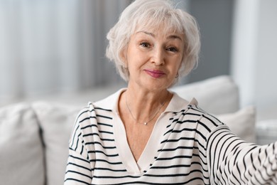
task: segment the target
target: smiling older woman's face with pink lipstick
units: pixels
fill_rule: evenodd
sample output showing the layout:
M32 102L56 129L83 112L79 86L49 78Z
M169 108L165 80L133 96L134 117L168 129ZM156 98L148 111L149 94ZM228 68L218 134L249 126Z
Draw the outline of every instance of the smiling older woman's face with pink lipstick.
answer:
M124 55L129 85L148 90L164 90L173 83L183 60L183 35L161 33L159 29L138 30Z

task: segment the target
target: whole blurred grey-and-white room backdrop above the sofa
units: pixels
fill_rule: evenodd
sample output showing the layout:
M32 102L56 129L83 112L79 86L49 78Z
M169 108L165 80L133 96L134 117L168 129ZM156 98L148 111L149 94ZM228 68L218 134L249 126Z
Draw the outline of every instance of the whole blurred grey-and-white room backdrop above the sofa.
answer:
M231 75L241 107L276 115L277 1L177 2L197 18L202 39L200 63L179 85ZM38 99L84 104L91 93L97 99L124 87L105 58L106 34L130 3L0 0L0 105Z

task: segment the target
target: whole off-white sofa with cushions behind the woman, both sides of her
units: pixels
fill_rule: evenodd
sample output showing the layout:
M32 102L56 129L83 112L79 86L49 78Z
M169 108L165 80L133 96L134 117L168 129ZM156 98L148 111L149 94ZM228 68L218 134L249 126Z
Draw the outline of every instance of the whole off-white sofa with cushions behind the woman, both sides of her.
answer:
M237 85L228 76L172 90L188 100L196 97L202 109L219 117L232 132L249 142L257 142L255 109L239 108ZM87 102L93 100L92 91ZM83 106L87 102L82 102ZM81 108L58 101L21 102L1 107L0 184L63 184L67 143Z

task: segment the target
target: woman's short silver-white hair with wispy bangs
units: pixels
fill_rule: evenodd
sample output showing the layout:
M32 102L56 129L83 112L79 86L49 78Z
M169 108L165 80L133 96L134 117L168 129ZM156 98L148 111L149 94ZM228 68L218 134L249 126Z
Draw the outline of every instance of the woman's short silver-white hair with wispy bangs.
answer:
M107 34L109 45L106 56L114 61L121 78L128 81L129 71L124 67L123 53L128 48L131 35L137 26L155 28L163 26L163 31L177 31L185 36L185 49L178 78L188 75L197 65L200 52L200 32L195 18L187 12L176 9L168 0L136 0L119 17L119 21ZM177 81L176 79L175 81Z

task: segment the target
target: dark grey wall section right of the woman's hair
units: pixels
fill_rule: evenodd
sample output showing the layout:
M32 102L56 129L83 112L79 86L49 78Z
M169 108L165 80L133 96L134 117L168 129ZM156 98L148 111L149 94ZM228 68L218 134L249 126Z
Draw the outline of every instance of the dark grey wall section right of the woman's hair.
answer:
M199 65L188 82L229 75L233 4L233 0L190 1L188 10L199 24L202 46Z

